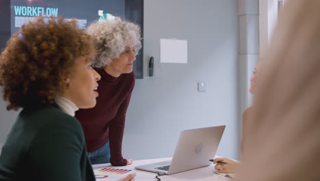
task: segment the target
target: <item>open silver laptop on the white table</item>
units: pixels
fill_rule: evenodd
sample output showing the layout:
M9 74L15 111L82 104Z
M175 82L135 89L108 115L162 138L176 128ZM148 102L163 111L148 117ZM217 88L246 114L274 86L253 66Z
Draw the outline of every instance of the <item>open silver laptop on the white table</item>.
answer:
M184 130L176 144L172 160L141 165L135 169L173 174L212 164L226 125Z

